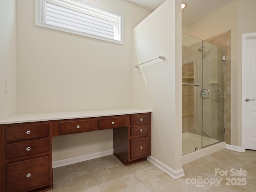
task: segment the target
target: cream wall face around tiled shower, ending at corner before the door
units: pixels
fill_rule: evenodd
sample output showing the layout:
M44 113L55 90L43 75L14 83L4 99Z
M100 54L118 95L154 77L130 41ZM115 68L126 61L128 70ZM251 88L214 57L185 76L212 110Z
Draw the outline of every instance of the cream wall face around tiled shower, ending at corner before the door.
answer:
M238 79L237 79L237 54L238 54L238 1L234 1L223 8L209 14L197 22L187 26L189 35L202 40L231 30L231 144L238 143Z

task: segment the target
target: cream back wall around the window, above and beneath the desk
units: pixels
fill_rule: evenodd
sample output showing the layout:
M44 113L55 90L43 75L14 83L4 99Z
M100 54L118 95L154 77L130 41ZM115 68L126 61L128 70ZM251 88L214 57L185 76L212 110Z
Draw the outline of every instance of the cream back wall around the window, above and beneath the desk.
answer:
M34 1L17 1L17 113L132 106L132 29L150 12L93 0L124 14L124 45L35 26ZM112 130L53 138L53 161L113 149Z

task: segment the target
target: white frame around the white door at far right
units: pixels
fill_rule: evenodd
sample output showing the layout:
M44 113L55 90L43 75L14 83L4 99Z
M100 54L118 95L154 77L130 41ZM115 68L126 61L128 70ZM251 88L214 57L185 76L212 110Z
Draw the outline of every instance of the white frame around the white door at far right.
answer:
M244 33L242 34L242 152L245 152L245 49L246 49L246 40L256 38L256 33Z

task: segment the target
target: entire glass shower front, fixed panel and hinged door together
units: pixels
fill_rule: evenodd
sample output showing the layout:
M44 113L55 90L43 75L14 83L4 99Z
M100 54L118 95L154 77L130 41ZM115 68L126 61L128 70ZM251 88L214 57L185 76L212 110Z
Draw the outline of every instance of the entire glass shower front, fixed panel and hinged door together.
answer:
M182 33L182 155L224 140L223 55Z

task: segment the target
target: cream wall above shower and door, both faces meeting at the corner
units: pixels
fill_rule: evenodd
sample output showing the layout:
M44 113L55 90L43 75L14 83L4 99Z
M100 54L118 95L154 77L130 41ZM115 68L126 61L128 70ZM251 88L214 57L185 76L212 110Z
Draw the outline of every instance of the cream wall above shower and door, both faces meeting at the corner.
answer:
M236 0L184 28L188 34L207 39L231 30L231 145L241 146L242 34L256 32L256 1Z

